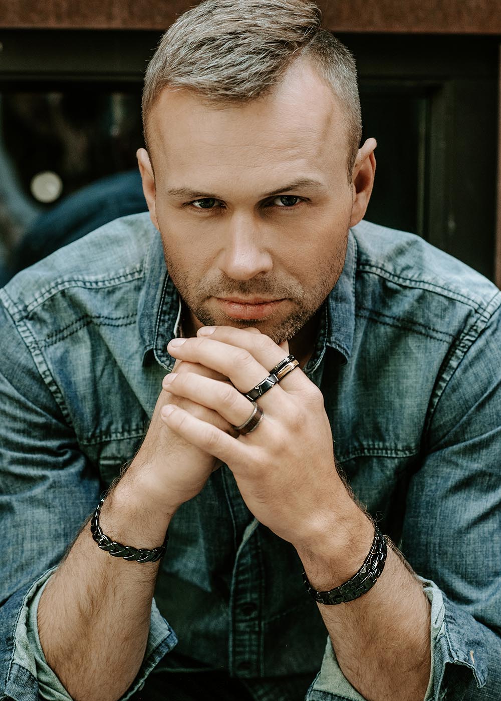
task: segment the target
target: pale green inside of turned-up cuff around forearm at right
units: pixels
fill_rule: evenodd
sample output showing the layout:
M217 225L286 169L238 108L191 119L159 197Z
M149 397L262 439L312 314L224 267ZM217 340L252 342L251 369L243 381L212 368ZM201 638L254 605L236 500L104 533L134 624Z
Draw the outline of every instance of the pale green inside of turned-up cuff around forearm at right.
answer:
M430 639L432 650L432 671L429 678L425 701L434 701L438 698L438 692L443 678L446 662L453 662L452 658L444 659L443 646L440 641L445 634L445 606L443 595L439 587L431 580L417 577L422 583L423 591L432 604ZM316 675L312 686L309 687L306 701L366 701L352 686L342 673L336 659L330 638L327 637L326 651L323 654L322 665L319 674Z

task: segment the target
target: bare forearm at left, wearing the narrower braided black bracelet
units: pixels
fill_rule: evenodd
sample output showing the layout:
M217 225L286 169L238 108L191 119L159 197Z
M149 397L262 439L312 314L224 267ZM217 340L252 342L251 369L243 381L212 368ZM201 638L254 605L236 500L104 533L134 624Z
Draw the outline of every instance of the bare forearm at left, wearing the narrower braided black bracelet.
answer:
M123 479L100 523L135 547L163 543L171 515L148 510ZM145 654L158 563L127 562L99 549L89 524L48 582L38 612L44 655L76 701L112 701L130 686Z

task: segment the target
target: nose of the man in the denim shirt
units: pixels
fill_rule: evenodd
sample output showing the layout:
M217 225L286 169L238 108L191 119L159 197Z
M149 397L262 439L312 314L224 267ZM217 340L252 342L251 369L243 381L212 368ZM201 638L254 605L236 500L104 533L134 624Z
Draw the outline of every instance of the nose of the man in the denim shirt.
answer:
M220 269L233 280L250 280L273 267L262 222L254 217L233 215L228 223Z

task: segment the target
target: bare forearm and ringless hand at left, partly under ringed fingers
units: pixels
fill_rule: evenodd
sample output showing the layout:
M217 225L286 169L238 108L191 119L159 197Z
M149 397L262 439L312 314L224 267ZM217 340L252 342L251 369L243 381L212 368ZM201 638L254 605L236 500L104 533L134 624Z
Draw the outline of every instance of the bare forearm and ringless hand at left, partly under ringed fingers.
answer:
M177 362L175 372L225 381L188 362ZM102 505L102 529L119 543L161 545L173 513L220 465L161 420L161 407L173 402L232 431L219 414L162 389L138 454ZM86 524L48 581L38 609L41 646L76 701L115 701L130 686L145 655L158 569L158 562L110 557L94 543Z

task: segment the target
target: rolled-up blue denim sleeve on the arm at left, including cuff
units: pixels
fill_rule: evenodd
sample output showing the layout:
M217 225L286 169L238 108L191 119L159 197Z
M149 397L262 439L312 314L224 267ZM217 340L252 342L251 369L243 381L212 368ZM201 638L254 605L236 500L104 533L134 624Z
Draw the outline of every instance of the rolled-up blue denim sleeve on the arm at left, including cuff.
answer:
M102 484L1 305L0 358L0 700L67 699L46 665L36 606ZM176 642L153 603L146 655L124 699Z

